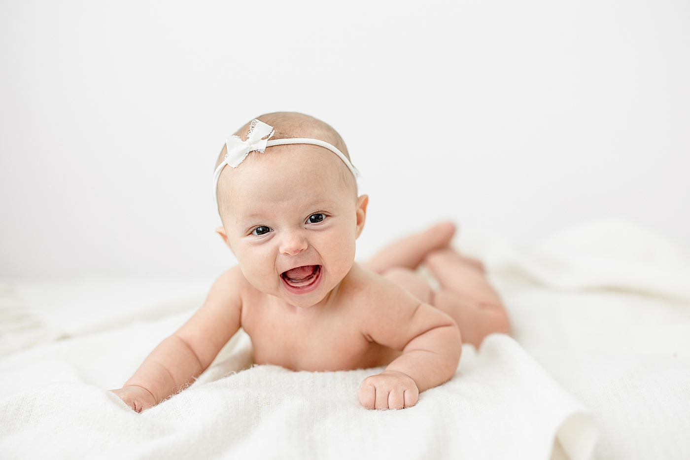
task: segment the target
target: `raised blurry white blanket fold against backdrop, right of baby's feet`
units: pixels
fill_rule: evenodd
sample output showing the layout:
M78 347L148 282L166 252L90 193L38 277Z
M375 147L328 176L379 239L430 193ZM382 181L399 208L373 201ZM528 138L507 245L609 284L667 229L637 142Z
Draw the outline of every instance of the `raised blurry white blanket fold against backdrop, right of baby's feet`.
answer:
M566 229L526 255L503 243L484 257L495 271L521 271L551 288L614 289L690 300L690 251L620 218Z

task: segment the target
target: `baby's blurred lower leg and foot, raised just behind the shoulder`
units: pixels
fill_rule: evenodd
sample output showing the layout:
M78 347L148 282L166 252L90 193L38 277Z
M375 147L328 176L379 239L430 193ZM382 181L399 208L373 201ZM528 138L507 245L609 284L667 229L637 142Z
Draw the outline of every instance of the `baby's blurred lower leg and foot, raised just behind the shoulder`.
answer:
M386 270L394 267L416 269L428 253L448 247L454 233L453 223L436 224L422 233L397 240L363 266L377 274L384 274Z

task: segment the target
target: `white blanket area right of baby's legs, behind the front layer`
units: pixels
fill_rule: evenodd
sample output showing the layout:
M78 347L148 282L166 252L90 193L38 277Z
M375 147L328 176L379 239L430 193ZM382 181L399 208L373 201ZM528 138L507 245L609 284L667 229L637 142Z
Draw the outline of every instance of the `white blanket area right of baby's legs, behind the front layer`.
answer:
M690 254L625 220L520 253L461 236L484 260L513 336L591 410L595 459L690 459Z

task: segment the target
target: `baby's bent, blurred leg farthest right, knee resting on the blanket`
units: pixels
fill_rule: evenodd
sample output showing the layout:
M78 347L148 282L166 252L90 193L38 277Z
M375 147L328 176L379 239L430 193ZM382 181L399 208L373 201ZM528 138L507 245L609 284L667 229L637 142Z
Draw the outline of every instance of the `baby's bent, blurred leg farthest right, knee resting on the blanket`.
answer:
M477 261L453 249L435 251L424 261L442 288L433 296L432 305L453 317L464 343L478 347L489 334L510 331L501 299Z

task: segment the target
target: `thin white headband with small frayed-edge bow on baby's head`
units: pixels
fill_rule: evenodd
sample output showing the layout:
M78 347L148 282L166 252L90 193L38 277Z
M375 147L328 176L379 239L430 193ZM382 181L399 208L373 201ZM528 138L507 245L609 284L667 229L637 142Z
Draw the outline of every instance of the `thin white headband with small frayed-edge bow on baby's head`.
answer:
M348 160L347 157L343 155L343 153L337 148L331 144L328 144L328 142L318 139L304 139L302 137L269 140L270 137L273 136L273 133L275 133L275 131L273 131L273 126L268 126L268 124L259 122L258 119L254 119L252 124L249 126L246 141L243 141L239 136L230 136L226 138L228 153L225 154L223 162L218 165L215 173L213 173L213 198L215 198L216 203L218 202L218 178L220 177L220 173L223 171L225 165L227 164L228 166L237 168L237 166L244 161L250 152L256 151L259 153L264 153L266 147L274 145L313 144L328 148L328 150L335 153L335 155L338 155L340 160L343 160L355 178L357 178L359 175L357 169L355 169L355 166L352 165L350 160ZM264 139L264 137L266 137L266 139Z

